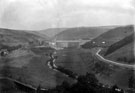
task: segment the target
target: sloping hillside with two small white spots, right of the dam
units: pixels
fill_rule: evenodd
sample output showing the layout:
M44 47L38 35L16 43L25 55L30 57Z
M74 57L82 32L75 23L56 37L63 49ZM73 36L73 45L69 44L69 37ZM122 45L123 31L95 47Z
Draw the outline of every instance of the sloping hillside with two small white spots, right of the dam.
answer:
M85 43L84 45L82 45L82 47L83 48L108 47L114 44L115 42L118 42L123 38L129 36L132 33L134 33L133 25L117 27L101 34L92 41Z

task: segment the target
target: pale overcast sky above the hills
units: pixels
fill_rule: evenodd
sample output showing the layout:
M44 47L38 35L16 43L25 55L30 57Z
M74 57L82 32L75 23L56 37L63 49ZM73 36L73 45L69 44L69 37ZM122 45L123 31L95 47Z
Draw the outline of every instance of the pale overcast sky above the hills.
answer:
M134 11L135 0L0 0L0 27L128 25L133 24Z

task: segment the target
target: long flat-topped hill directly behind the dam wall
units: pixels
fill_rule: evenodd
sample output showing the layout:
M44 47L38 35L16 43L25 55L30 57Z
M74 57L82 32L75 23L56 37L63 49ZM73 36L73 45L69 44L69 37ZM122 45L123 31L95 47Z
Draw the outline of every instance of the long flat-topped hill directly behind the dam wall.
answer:
M110 30L113 27L76 27L66 29L57 35L57 40L92 39Z

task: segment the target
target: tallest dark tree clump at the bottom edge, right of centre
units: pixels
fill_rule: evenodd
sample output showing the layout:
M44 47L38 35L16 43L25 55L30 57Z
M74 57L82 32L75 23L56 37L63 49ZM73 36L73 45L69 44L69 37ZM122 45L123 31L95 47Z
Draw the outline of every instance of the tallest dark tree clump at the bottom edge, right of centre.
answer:
M71 87L71 93L95 93L97 91L97 83L95 75L87 73L85 76L79 76L78 82Z

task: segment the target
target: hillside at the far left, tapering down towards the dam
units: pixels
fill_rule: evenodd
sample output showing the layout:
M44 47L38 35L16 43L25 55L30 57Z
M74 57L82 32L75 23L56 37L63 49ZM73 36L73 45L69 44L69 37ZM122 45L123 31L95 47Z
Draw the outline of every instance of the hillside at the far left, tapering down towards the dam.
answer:
M12 46L29 42L38 43L40 41L46 41L46 38L27 31L0 28L1 44Z

